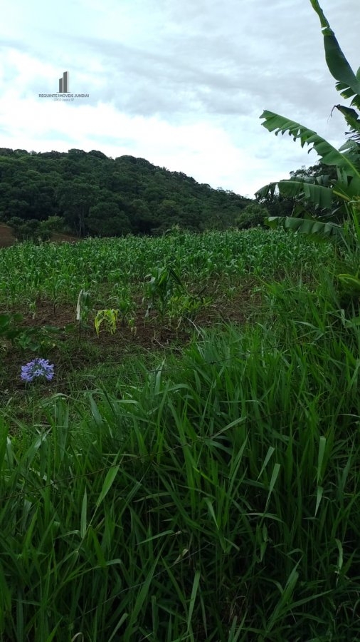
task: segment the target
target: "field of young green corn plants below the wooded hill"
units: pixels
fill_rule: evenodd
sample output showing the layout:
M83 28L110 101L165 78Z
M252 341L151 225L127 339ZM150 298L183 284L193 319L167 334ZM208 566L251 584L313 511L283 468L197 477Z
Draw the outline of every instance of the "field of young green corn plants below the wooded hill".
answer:
M81 284L85 292L90 292L92 307L95 302L101 302L102 308L119 310L125 305L132 315L134 296L145 295L151 304L159 280L163 298L168 286L168 300L177 294L178 287L180 294L186 293L176 278L171 282L171 275L162 272L164 266L176 266L176 275L185 288L196 282L200 290L206 285L213 290L214 282L231 280L236 284L248 275L269 278L283 270L294 273L296 265L307 269L328 263L333 256L330 245L312 252L310 247L305 238L290 239L283 230L261 228L203 235L178 231L158 238L129 236L79 243L17 244L0 252L0 303L23 305L24 301L41 297L56 305L69 302L75 307ZM144 285L146 275L149 287L147 282ZM104 290L109 293L105 299Z

